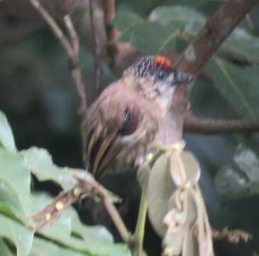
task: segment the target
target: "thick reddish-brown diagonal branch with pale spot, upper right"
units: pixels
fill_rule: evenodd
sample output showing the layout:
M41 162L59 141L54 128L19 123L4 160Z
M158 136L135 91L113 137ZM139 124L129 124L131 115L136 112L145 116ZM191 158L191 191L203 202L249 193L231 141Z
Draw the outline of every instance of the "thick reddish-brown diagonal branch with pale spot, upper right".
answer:
M256 0L228 0L222 4L219 11L206 22L194 42L184 50L177 61L178 69L193 74L199 73L206 61L256 2Z

